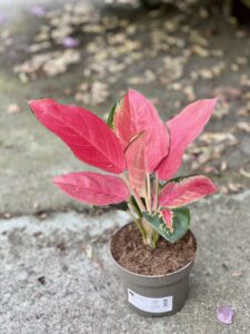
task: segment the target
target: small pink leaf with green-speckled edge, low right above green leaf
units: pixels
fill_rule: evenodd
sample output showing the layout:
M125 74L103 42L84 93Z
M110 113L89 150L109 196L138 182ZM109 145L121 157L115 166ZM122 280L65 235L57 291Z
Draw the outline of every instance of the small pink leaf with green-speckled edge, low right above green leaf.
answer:
M160 193L159 204L168 208L180 207L216 191L217 187L208 177L192 176L180 183L168 183Z

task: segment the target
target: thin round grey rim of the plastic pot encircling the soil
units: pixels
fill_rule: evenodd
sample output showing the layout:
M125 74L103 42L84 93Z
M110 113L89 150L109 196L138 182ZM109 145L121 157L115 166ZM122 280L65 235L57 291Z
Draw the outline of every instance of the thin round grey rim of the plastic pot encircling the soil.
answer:
M116 265L117 265L120 269L124 271L126 273L128 273L128 274L130 274L130 275L134 275L136 277L143 277L143 278L166 278L166 277L170 277L170 276L173 276L173 275L176 275L176 274L181 273L182 271L187 269L190 265L192 265L192 264L194 263L194 258L193 258L192 261L188 262L187 265L184 265L184 266L181 267L180 269L178 269L178 271L176 271L176 272L173 272L173 273L168 273L168 274L166 274L166 275L142 275L142 274L137 274L137 273L130 272L129 269L124 268L124 267L121 266L121 265L117 262L117 259L113 257L112 252L111 252L111 243L112 243L112 238L114 237L114 235L116 235L120 229L124 228L127 225L130 225L130 224L132 224L132 223L133 223L133 222L130 222L130 223L127 223L126 225L119 227L119 228L112 234L112 236L111 236L111 238L110 238L110 240L109 240L109 253L111 254L112 259L114 261ZM194 239L194 242L196 242L196 253L197 253L197 238L196 238L196 236L194 236L194 234L192 233L191 229L189 229L189 232L191 233L191 235L192 235L192 237L193 237L193 239Z

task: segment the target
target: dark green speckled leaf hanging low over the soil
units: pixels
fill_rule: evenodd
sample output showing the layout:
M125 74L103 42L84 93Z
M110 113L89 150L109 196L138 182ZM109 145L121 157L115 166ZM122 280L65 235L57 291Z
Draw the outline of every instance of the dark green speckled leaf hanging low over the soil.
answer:
M170 243L176 243L181 239L190 226L190 212L187 207L173 209L173 232L166 226L164 220L158 212L144 212L143 217L153 229Z

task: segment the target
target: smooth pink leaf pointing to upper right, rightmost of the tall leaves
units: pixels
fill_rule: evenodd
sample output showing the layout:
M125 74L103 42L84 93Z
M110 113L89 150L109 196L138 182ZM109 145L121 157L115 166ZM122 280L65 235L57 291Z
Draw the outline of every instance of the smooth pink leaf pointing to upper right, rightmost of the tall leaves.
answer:
M168 180L178 171L187 146L202 131L212 115L217 99L196 101L168 121L170 149L168 156L157 168L159 178Z

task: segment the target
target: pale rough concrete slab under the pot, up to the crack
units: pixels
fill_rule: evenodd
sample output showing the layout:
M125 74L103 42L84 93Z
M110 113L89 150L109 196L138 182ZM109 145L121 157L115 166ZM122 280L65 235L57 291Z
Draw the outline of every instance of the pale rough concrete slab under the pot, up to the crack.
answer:
M250 333L249 200L249 191L217 196L192 210L198 256L189 299L162 318L130 311L113 273L108 239L126 214L0 220L0 333ZM217 321L221 305L236 312L230 326Z

